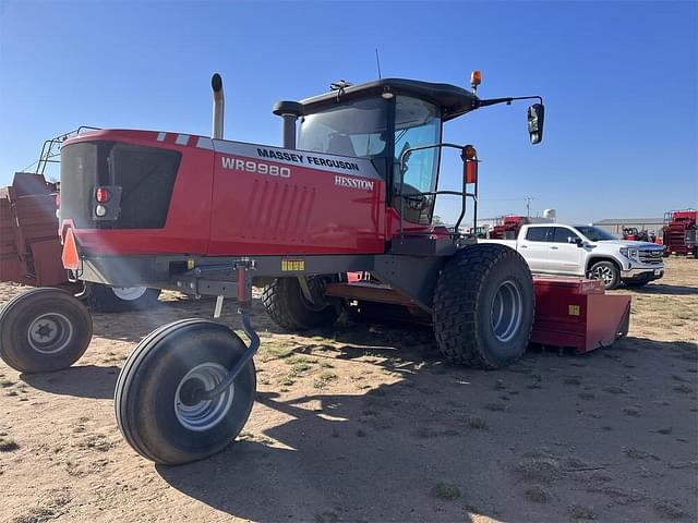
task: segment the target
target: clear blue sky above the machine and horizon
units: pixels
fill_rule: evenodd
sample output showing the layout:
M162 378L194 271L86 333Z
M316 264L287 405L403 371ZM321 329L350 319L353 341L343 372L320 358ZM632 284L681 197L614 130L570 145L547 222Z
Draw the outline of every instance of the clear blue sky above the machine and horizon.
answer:
M272 106L345 78L542 95L448 123L483 160L481 216L557 209L562 220L698 207L698 2L77 2L0 0L0 185L43 142L77 127L210 132L212 72L226 137L280 144ZM442 187L459 160L444 159ZM455 205L441 204L446 218Z

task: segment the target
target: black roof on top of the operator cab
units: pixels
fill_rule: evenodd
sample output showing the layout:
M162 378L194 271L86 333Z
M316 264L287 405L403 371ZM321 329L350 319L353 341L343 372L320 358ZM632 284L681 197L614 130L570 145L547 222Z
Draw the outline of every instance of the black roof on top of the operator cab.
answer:
M299 102L279 101L274 108L274 112L284 112L288 105L298 104L298 112L301 114L312 114L327 109L337 104L346 104L360 98L380 96L383 93L394 95L407 95L431 101L442 108L442 119L444 121L454 119L469 112L479 106L479 98L471 92L450 84L435 84L431 82L420 82L405 78L381 78L364 84L351 85L324 95L305 98ZM278 112L277 112L278 111Z

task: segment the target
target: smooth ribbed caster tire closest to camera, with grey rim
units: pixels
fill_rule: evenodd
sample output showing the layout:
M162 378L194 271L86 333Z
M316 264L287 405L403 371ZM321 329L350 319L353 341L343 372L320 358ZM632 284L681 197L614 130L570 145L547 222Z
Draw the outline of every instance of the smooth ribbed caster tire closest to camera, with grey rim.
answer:
M221 451L250 417L256 390L254 362L222 394L194 405L182 401L192 387L219 384L245 351L229 328L183 319L151 332L119 374L117 424L127 442L156 463L179 465Z

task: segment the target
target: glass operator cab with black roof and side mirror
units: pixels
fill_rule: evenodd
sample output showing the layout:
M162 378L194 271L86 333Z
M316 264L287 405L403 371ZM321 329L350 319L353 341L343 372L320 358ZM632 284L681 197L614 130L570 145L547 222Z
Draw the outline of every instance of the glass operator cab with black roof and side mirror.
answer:
M284 147L370 159L386 180L387 206L401 220L429 226L436 202L441 149L460 148L442 144L443 123L479 107L517 99L481 100L474 94L478 83L479 76L469 92L448 84L402 78L360 85L340 81L332 85L330 93L299 102L277 102L274 113L285 121ZM542 104L539 107L540 122L538 113L533 122L537 132L538 124L542 131ZM540 142L540 135L537 139ZM531 142L538 143L533 134ZM477 162L474 156L469 159Z

